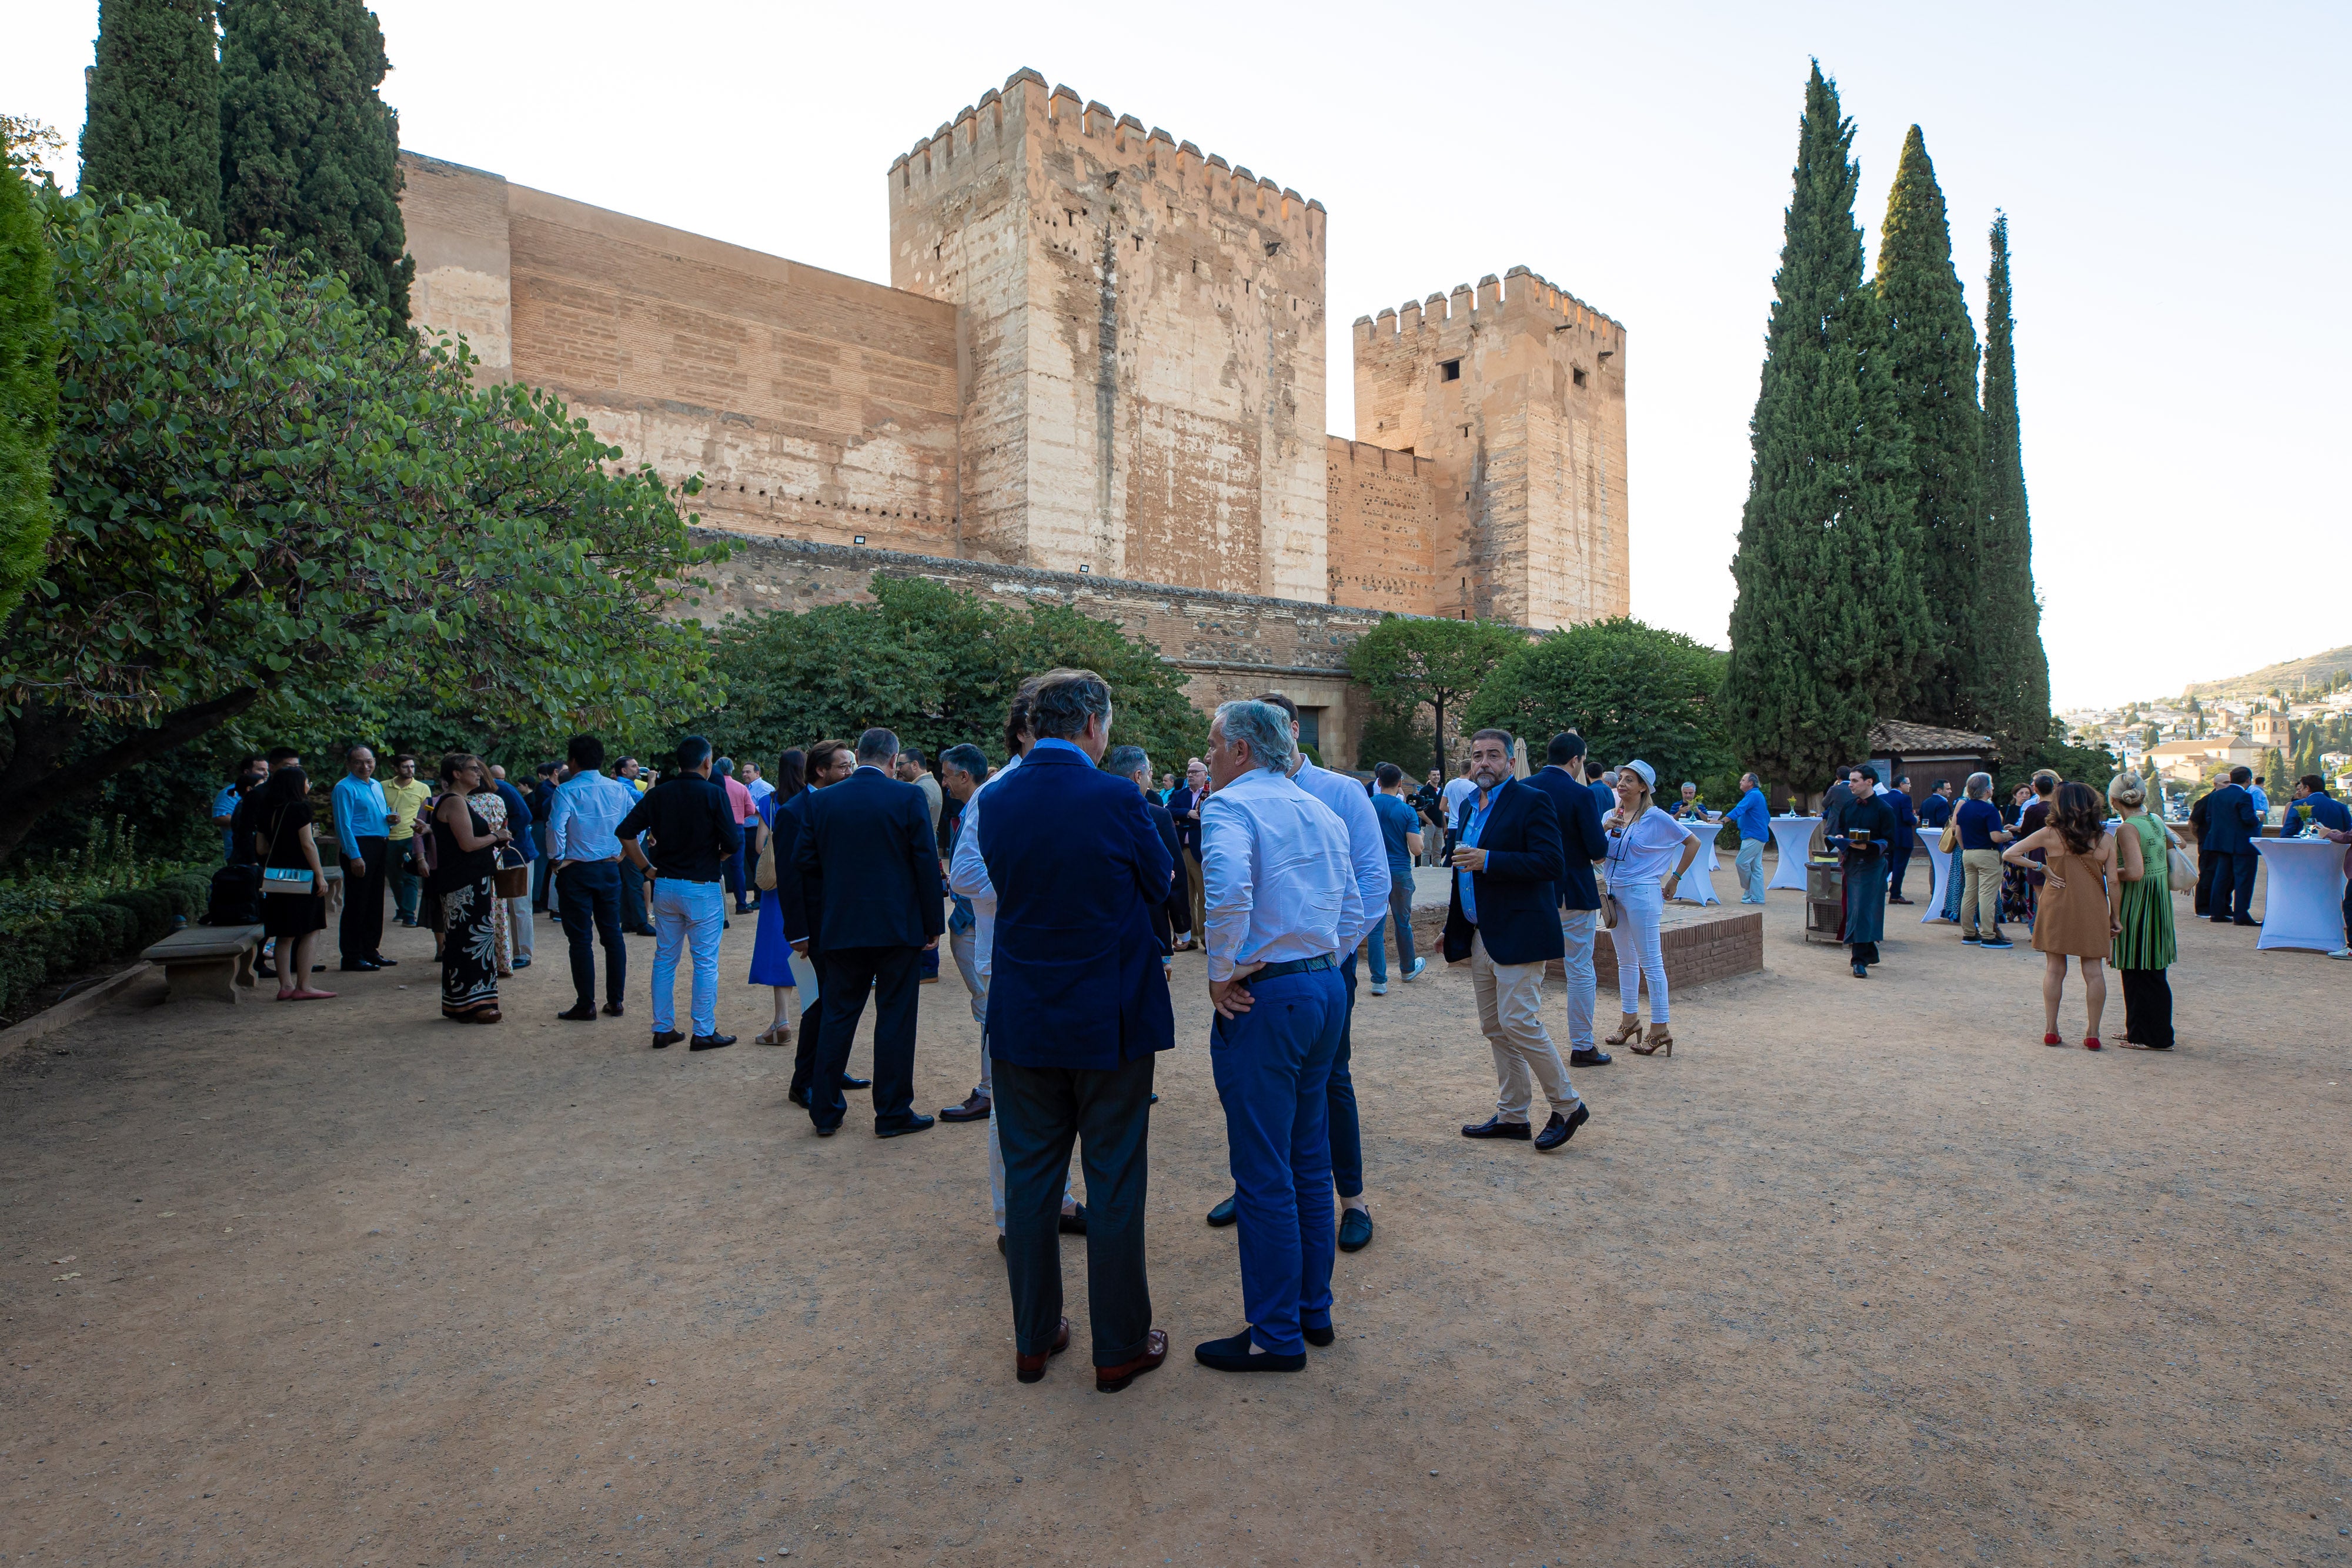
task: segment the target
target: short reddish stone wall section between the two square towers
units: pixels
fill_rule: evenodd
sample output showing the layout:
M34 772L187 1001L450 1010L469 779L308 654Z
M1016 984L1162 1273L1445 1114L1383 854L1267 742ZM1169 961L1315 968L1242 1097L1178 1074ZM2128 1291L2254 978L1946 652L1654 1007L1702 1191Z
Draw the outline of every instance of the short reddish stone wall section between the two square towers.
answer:
M1331 602L1437 616L1461 595L1437 581L1437 557L1458 552L1449 524L1461 508L1439 501L1437 463L1367 442L1331 437Z

